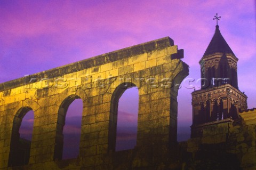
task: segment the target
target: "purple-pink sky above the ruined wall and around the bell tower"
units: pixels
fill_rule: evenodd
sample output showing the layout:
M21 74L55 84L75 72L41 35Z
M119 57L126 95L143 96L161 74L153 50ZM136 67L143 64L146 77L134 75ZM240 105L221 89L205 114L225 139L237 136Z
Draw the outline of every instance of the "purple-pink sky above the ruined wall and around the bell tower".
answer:
M256 107L255 1L0 1L0 83L169 36L185 50L188 78L220 31L236 54L238 86ZM191 92L181 85L179 126L191 125ZM200 86L200 84L196 84Z

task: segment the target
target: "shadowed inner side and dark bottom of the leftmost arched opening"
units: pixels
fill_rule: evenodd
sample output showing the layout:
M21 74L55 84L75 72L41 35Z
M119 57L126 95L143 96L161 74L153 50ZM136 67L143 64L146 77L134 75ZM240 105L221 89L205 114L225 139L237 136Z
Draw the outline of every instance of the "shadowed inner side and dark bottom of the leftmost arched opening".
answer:
M30 101L31 102L31 101ZM28 111L33 110L31 107L21 107L16 111L13 119L11 143L10 143L10 154L8 166L21 166L29 163L31 141L20 141L19 129L23 117ZM35 110L33 110L35 111Z

